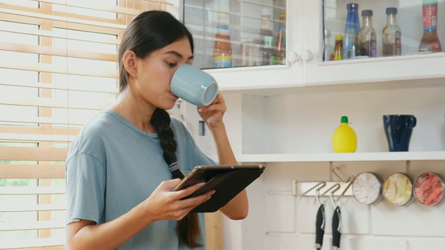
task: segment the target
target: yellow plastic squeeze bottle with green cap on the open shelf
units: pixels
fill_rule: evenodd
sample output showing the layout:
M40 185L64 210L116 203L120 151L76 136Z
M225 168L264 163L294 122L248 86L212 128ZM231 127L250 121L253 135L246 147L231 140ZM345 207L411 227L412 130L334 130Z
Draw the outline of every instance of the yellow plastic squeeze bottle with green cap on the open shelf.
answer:
M348 126L348 117L341 117L341 124L332 137L332 147L335 153L353 153L357 149L357 135Z

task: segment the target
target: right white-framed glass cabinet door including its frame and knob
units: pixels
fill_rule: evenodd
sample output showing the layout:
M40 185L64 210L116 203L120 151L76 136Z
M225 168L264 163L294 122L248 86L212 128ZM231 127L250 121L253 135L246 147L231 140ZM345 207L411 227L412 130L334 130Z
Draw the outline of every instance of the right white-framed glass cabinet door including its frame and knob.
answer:
M426 78L444 78L445 71L442 65L445 61L445 53L419 49L423 37L423 7L426 4L435 5L435 3L437 3L437 17L432 18L430 24L437 24L437 37L443 44L445 42L445 0L304 0L302 6L305 15L303 54L313 55L309 57L309 60L303 58L305 85L373 83L405 79L421 79L417 82L423 84ZM358 18L359 31L364 26L363 14L372 18L372 20L368 19L369 21L365 20L365 24L372 22L375 32L376 47L372 57L373 49L370 45L360 51L358 36L348 41L346 26L350 24L348 23L348 6L351 4L357 6L354 14L355 22ZM314 13L319 13L318 17ZM349 20L353 22L354 19ZM384 38L383 33L387 22L397 24L398 30L393 30L392 35L386 35ZM428 27L433 29L430 24ZM371 41L371 35L369 36L370 38L366 39ZM342 51L339 52L343 56L341 60L335 60L335 53L331 56L332 51L335 51L336 37L339 38L337 40L343 42ZM384 46L385 39L388 42ZM352 53L347 51L351 50L348 47L350 44L354 44L356 48L352 56L348 58L346 53ZM325 53L325 50L330 52Z

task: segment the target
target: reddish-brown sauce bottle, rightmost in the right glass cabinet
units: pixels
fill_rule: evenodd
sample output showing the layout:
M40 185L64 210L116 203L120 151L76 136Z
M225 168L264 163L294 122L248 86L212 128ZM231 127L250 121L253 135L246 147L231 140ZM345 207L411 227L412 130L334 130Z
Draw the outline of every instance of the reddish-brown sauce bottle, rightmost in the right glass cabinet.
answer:
M437 0L423 0L423 36L419 52L442 52L437 36Z

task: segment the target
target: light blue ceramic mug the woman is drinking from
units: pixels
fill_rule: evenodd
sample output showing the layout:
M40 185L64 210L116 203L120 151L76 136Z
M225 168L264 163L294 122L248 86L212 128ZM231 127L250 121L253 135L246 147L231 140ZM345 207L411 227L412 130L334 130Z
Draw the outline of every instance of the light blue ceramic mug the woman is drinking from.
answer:
M218 93L215 78L189 64L179 67L170 83L172 93L196 106L208 106Z

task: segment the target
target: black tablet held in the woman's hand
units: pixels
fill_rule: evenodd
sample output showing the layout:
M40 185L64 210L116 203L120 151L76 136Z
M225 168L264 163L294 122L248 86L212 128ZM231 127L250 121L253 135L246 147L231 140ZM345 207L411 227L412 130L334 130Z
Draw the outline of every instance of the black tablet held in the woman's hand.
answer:
M216 212L236 194L263 174L264 165L203 165L192 169L172 191L188 188L197 183L205 183L201 188L184 199L215 190L211 199L194 208L192 213Z

